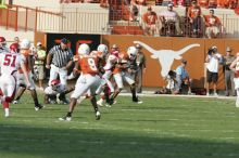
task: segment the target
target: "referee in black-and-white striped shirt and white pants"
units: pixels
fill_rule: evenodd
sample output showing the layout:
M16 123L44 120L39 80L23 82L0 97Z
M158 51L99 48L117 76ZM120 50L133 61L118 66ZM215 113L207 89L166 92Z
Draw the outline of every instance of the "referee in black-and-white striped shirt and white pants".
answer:
M54 45L48 53L46 68L50 69L49 85L60 76L61 83L66 88L67 69L73 64L73 53L67 48L68 40L63 38L61 44Z

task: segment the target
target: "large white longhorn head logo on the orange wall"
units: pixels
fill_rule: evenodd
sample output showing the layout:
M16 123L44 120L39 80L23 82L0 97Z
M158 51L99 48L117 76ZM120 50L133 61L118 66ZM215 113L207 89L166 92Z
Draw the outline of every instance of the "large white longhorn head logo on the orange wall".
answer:
M159 60L160 65L162 67L161 69L162 77L165 77L167 73L171 70L171 66L173 65L174 60L181 60L181 54L186 53L191 48L200 47L200 44L194 43L194 44L187 45L179 51L173 51L173 50L154 50L141 41L134 41L134 43L140 44L146 50L148 50L150 53L152 53L151 55L152 58Z

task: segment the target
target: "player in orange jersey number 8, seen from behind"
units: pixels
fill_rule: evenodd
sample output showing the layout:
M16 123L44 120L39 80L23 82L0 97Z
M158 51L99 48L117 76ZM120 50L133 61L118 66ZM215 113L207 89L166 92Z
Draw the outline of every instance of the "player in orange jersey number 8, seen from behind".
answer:
M75 61L75 71L80 69L80 76L75 84L75 90L71 96L70 109L66 116L59 118L59 120L71 121L72 113L76 106L77 98L85 95L87 92L90 94L90 101L96 113L96 119L100 119L100 111L97 105L96 89L100 84L99 69L97 67L99 57L90 55L88 44L80 44L78 49L78 61Z

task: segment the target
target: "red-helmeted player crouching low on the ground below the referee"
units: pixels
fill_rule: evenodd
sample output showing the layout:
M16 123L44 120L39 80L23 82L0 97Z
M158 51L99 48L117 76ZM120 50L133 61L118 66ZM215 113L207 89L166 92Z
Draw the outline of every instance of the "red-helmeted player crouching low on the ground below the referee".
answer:
M63 104L68 104L68 101L65 97L65 94L74 91L73 88L67 88L65 90L65 85L61 83L60 80L54 79L51 81L50 85L45 89L45 104L55 104L56 95L59 94L59 100Z

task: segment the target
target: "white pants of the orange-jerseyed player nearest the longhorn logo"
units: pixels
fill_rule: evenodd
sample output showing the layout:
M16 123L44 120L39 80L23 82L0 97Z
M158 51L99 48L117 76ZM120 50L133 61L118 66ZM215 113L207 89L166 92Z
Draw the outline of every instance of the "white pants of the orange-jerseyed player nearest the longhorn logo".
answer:
M118 73L114 75L114 80L118 87L118 89L123 89L123 80L126 81L129 85L135 83L135 75L130 75L129 73Z

